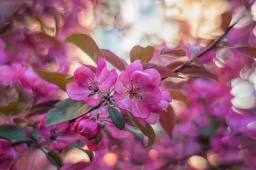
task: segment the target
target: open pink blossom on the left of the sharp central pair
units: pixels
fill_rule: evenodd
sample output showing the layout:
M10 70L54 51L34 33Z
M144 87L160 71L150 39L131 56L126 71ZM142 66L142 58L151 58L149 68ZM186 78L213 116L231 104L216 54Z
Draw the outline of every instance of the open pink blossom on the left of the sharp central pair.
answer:
M106 61L99 59L96 74L89 67L82 66L76 69L74 78L76 81L67 85L68 96L74 100L85 99L86 104L95 105L102 97L100 93L115 84L117 73L115 69L108 71Z

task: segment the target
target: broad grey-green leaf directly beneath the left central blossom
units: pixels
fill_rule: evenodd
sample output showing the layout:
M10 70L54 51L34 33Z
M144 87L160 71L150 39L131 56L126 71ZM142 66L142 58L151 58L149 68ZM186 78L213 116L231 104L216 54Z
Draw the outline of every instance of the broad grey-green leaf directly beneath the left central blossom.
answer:
M48 111L46 126L77 118L89 111L92 107L84 104L84 101L74 101L69 98L60 101L56 104L55 108Z

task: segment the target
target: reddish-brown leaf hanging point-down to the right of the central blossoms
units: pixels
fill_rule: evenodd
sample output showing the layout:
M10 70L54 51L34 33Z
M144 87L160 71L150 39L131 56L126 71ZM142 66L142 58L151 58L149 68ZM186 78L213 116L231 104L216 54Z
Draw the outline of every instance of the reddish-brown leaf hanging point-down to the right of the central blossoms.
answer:
M168 108L159 115L159 117L159 122L164 131L166 131L170 138L172 138L172 131L175 125L175 113L172 106L169 105Z

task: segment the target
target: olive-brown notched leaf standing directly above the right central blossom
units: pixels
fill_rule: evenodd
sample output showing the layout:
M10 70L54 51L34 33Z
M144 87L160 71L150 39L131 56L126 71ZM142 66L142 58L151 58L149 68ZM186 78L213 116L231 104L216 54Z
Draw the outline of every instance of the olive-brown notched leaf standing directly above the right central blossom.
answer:
M147 46L144 48L140 45L136 45L130 52L131 62L134 62L134 60L141 60L141 63L148 62L152 59L154 51L155 49L153 46Z

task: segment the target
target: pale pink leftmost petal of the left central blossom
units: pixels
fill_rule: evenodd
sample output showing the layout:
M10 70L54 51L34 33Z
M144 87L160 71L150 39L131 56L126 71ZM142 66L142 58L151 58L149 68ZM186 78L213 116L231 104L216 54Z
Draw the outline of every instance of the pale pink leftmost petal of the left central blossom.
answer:
M90 90L82 83L76 81L67 84L67 93L71 99L80 101L88 97Z

